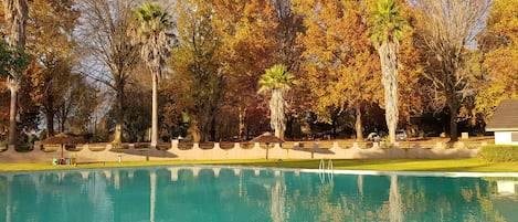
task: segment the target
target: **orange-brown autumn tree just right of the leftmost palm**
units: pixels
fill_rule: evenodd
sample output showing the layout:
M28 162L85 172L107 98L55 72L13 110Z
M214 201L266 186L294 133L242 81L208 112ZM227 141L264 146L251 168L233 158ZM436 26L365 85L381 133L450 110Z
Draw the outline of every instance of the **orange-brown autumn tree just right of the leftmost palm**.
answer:
M72 2L35 0L30 3L28 21L28 47L32 50L40 72L29 73L32 96L41 105L45 116L46 134L54 135L54 118L64 103L65 92L70 87L70 76L77 64L75 29L78 11Z

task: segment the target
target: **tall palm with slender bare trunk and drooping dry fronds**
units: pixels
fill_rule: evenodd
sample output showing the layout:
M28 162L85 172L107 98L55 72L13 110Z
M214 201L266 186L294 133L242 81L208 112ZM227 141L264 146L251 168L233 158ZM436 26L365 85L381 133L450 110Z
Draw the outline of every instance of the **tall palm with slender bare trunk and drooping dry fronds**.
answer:
M158 78L169 55L169 39L167 31L171 27L170 17L160 6L146 2L135 8L136 28L134 40L141 44L140 55L146 62L152 78L152 121L151 147L158 142Z

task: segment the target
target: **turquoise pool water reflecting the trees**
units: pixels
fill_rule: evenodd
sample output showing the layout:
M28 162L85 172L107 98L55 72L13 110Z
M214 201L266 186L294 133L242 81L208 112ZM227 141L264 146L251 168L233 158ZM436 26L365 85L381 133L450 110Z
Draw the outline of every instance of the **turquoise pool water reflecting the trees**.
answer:
M226 167L0 173L0 221L517 221L504 178Z

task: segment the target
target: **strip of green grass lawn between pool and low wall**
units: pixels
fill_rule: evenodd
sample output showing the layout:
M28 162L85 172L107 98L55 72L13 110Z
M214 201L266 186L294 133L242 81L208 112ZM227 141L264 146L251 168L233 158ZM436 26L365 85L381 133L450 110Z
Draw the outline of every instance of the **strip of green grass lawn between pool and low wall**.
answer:
M203 160L203 161L135 161L94 162L77 166L50 163L0 163L0 171L65 170L115 167L147 167L173 165L228 165L276 168L318 169L320 160ZM327 161L326 161L327 165ZM518 162L487 162L483 159L340 159L332 160L334 169L381 171L443 171L443 172L518 172Z

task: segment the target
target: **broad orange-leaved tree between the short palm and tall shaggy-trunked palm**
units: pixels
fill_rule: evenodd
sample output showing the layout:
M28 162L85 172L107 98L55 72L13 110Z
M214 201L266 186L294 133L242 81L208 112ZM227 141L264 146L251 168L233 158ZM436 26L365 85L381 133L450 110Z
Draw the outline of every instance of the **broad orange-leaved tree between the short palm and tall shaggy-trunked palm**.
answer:
M313 110L330 123L332 113L355 113L358 140L362 140L363 108L380 98L378 57L369 41L364 2L294 1L304 13L305 75L314 98ZM318 10L317 10L318 9Z

